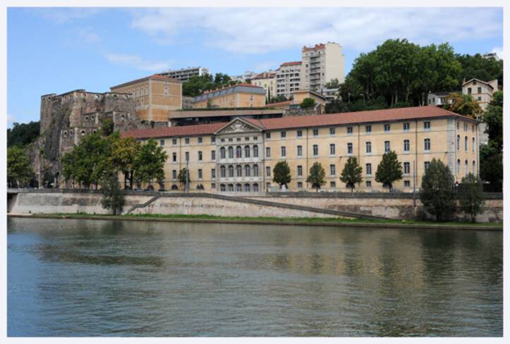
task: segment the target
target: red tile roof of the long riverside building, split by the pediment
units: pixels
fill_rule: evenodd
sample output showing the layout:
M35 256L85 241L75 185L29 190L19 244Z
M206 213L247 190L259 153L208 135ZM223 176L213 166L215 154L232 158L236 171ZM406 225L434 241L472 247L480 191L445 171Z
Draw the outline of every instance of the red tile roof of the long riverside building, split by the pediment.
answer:
M252 119L243 118L245 121L257 125L263 130L289 129L289 128L312 128L327 125L377 123L389 121L404 121L423 118L440 118L454 116L473 121L472 118L461 116L436 106L416 106L400 109L384 109L374 111L358 111L345 113L330 113L325 115L287 116L282 118ZM122 133L123 137L135 138L169 137L184 135L207 135L212 134L226 123L212 123L200 125L183 125L180 127L130 130Z

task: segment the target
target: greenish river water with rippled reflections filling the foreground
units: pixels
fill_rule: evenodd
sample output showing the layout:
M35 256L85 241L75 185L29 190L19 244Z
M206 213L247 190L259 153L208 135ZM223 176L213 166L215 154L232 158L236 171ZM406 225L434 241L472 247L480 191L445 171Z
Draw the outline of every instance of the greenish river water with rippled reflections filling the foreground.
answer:
M8 336L502 336L502 232L8 220Z

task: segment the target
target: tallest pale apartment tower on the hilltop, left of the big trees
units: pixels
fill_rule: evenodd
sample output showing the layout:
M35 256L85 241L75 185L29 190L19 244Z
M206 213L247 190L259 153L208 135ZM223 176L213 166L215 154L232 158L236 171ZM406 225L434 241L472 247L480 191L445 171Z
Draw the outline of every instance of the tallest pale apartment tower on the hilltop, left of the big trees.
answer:
M334 79L344 82L345 61L339 44L327 42L315 44L315 47L303 47L301 55L302 90L322 90L327 82Z

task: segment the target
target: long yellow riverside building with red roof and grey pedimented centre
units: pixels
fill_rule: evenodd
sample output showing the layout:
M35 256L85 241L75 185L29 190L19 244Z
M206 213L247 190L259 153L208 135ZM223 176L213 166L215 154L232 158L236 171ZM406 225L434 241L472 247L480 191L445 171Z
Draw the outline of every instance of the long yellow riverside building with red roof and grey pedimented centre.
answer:
M123 136L154 138L167 152L164 188L180 188L177 176L189 162L190 190L257 192L275 190L273 168L286 160L289 189L312 190L310 167L320 162L327 184L348 190L339 179L349 156L358 157L363 183L358 190L384 190L375 181L384 152L398 155L403 178L394 188L420 188L427 164L442 160L456 180L478 173L478 121L432 106L284 118L236 118L229 123L130 130Z

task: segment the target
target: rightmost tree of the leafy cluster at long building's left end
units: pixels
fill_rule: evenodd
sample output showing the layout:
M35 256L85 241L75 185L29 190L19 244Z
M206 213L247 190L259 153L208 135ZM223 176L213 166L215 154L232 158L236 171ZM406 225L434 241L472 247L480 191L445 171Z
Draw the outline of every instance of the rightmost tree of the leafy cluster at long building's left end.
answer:
M137 183L151 183L152 180L161 182L164 180L164 162L167 154L162 147L157 145L154 139L149 139L145 145L141 145L133 169L135 171L134 179Z

